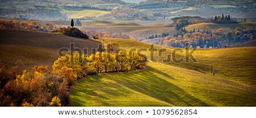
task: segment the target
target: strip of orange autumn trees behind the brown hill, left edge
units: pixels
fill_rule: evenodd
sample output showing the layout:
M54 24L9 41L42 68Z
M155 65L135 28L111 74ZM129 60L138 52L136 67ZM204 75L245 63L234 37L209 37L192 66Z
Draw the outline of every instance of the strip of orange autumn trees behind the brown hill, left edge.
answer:
M56 26L53 27L51 24L38 24L35 21L1 21L0 20L0 28L1 29L23 29L23 30L31 30L35 32L51 32L54 29L57 29Z

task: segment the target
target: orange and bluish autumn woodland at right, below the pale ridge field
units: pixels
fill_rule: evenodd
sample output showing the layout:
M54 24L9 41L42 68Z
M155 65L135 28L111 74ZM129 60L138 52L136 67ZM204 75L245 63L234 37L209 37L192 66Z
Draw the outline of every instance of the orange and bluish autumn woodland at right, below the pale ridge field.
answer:
M256 30L254 29L241 29L238 27L234 30L230 28L226 30L222 28L212 30L207 27L203 29L203 32L199 29L193 29L193 31L190 30L189 32L183 29L183 32L178 32L174 37L160 38L159 42L156 43L164 46L184 48L184 44L188 42L191 48L214 48L255 40L255 38Z

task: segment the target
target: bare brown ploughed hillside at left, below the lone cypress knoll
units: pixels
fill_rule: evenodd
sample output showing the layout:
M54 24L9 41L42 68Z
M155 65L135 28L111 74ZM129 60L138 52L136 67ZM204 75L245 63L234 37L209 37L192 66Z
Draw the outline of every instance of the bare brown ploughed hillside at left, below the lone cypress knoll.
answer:
M16 29L0 29L0 59L7 65L21 60L29 70L34 65L51 65L59 57L60 48L70 47L92 49L100 42L67 37L62 34L30 32ZM92 53L92 50L88 50Z

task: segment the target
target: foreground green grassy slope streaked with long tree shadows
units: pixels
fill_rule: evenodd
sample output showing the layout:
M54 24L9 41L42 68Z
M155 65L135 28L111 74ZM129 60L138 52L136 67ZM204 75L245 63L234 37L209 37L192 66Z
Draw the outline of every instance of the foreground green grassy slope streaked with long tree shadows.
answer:
M256 105L256 91L248 86L151 62L143 71L87 76L72 89L72 106Z

